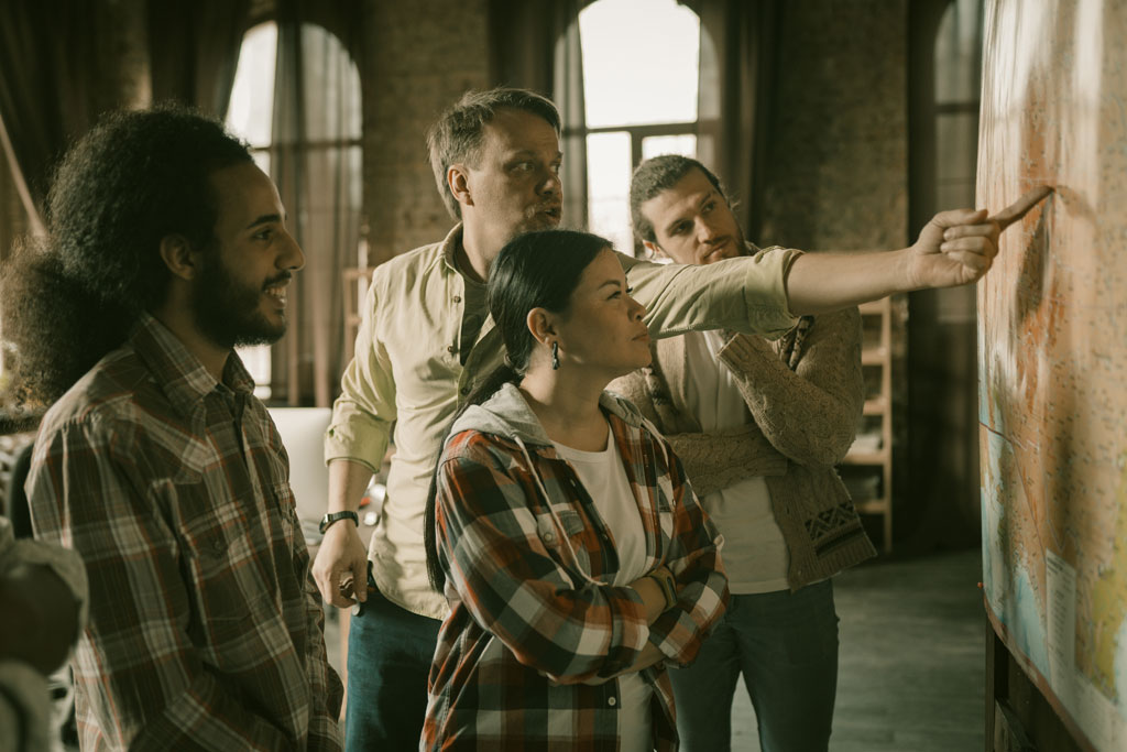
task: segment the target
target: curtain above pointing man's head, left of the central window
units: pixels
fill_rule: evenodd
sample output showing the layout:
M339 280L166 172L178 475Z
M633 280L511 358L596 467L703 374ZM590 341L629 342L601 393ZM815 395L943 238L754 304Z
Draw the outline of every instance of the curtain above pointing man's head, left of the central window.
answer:
M532 89L560 109L564 227L587 225L587 142L579 11L592 0L491 0L490 82Z

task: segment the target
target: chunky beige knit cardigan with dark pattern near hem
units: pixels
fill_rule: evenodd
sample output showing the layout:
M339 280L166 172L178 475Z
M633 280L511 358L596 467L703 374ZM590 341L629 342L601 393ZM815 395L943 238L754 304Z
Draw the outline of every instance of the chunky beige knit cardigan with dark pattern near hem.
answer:
M834 471L853 442L864 404L861 325L855 308L801 322L777 343L726 337L720 361L733 372L753 422L702 433L686 402L683 337L654 345L654 364L609 387L635 402L681 457L704 496L763 476L790 552L791 590L876 556Z

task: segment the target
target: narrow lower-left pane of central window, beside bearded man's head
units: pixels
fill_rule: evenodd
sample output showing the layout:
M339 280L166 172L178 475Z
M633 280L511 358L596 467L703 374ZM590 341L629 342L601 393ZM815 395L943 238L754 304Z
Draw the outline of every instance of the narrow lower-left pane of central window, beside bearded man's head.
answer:
M633 253L630 170L629 133L587 136L587 224L624 254Z

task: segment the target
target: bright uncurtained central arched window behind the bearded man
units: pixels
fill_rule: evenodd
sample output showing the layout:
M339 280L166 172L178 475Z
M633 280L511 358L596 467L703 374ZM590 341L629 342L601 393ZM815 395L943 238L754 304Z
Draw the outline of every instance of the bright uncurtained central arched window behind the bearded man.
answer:
M598 0L579 14L579 39L587 224L628 251L633 168L696 156L700 19L675 0Z

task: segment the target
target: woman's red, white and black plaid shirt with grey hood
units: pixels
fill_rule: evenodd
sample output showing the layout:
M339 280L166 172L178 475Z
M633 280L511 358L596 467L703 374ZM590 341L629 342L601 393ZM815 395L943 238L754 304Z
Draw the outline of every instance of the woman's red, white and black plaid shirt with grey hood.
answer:
M724 612L718 533L680 461L633 406L604 395L603 407L641 515L646 570L669 567L678 604L647 627L638 592L609 584L613 531L506 384L459 421L438 467L451 613L431 669L421 749L618 750L619 683L606 678L647 643L675 664L692 661ZM673 750L668 676L659 664L644 678L655 690L654 743Z

